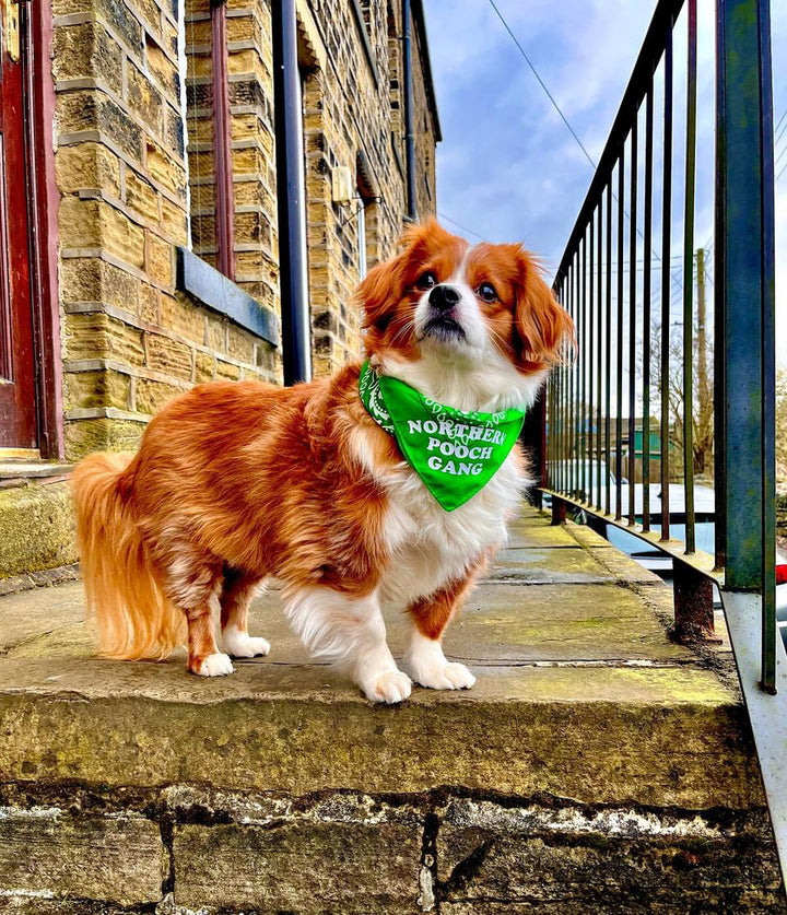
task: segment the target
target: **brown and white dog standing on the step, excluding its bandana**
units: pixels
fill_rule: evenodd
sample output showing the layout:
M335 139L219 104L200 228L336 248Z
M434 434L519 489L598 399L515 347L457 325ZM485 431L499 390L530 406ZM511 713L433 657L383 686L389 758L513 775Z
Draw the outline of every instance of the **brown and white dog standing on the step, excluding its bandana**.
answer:
M461 410L529 407L571 345L571 318L519 245L481 244L436 222L410 227L357 300L380 374ZM269 576L316 654L346 666L365 695L396 703L411 680L472 687L441 636L528 482L515 448L491 481L445 512L359 397L360 364L292 388L213 383L171 401L134 456L96 454L74 471L82 574L99 650L233 672L265 655L247 609ZM380 606L407 607L404 666ZM220 609L223 653L212 612Z

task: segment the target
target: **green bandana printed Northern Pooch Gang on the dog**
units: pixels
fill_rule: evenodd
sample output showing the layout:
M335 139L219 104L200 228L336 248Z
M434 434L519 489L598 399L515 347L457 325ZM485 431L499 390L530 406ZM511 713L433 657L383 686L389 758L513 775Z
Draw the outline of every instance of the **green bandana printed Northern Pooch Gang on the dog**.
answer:
M472 498L514 447L524 410L469 413L430 400L366 361L359 391L372 419L395 436L410 466L446 512Z

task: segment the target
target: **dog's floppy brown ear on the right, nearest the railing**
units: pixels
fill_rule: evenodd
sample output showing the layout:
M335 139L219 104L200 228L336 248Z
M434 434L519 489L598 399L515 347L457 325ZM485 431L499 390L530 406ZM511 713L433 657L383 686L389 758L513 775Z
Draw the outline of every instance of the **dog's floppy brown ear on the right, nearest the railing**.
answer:
M572 357L574 321L544 282L536 259L518 253L519 275L514 314L514 350L517 367L532 372Z

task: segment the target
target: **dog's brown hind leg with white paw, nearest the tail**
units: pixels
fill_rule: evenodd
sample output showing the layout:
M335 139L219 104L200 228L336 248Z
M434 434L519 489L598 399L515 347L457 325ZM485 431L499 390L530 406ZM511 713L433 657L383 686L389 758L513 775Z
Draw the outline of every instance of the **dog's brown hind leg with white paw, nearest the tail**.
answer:
M186 614L188 669L200 677L235 672L228 655L219 650L215 641L213 613L219 610L222 580L221 562L188 548L167 566L164 590Z

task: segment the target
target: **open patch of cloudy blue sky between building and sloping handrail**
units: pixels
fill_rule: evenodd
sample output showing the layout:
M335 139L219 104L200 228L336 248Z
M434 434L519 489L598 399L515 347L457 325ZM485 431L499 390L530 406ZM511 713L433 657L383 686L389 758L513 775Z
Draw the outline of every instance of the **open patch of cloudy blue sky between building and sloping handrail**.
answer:
M647 23L642 2L610 16L600 0L497 1L598 156ZM493 241L525 239L556 263L591 166L488 2L432 0L427 13L445 136L441 212Z

